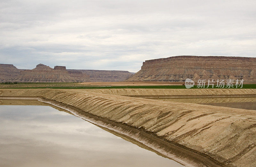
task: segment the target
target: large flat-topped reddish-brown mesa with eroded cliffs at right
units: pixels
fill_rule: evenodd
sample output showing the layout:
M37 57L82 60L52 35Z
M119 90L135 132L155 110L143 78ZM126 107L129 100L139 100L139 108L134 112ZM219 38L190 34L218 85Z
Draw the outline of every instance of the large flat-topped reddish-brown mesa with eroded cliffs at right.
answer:
M126 81L184 82L201 80L256 81L256 58L223 56L175 56L146 60Z

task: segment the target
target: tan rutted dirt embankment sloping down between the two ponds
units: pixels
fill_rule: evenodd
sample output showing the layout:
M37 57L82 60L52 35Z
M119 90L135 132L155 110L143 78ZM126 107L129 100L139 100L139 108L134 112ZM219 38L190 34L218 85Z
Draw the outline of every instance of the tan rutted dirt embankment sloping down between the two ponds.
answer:
M147 94L145 90L140 91ZM182 90L168 91L169 93L182 93ZM187 91L184 92L196 94L196 90ZM207 89L205 91L208 94L245 93L242 91L255 94L255 90L251 89L220 91ZM165 102L102 94L91 90L0 89L0 95L41 96L74 106L101 118L142 128L165 140L203 153L224 165L256 165L256 114L254 110Z

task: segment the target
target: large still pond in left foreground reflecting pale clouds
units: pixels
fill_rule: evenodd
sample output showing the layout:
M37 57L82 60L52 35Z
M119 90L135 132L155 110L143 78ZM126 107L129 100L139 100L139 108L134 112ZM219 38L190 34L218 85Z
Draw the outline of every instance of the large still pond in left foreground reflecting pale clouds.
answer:
M44 103L1 104L0 166L182 166Z

